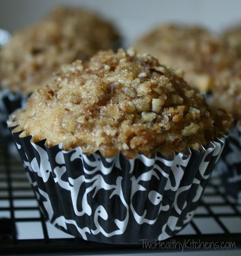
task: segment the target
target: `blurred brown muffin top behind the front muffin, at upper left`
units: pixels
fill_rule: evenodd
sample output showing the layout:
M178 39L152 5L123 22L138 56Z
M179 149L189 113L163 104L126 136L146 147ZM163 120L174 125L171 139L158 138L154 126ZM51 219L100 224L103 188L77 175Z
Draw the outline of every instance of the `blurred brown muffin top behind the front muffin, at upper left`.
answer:
M1 50L0 87L32 92L63 63L88 59L118 39L112 25L95 13L59 7L15 33Z

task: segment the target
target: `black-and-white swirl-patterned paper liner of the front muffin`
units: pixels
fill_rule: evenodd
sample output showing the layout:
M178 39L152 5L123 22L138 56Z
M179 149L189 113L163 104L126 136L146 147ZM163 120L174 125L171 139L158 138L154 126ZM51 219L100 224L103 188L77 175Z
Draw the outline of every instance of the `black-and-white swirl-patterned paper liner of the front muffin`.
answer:
M11 122L9 122L10 124ZM16 127L16 126L15 126ZM86 156L80 147L46 147L13 132L40 208L53 225L84 240L141 244L176 235L192 219L225 139L203 152Z

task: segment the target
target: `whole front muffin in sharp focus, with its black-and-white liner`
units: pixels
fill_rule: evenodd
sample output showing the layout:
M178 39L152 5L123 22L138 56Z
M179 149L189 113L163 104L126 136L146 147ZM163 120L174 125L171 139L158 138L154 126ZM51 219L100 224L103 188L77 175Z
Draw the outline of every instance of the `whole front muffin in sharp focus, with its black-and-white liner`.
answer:
M178 71L133 48L63 66L11 118L46 217L115 244L163 240L189 223L232 125Z

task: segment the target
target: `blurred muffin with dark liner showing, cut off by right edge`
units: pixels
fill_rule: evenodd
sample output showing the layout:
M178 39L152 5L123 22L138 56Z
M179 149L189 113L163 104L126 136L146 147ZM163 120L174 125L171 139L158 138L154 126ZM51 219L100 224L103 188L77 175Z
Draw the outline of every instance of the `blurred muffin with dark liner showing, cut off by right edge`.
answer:
M238 54L237 54L238 56ZM241 58L217 75L212 89L212 105L222 107L235 119L235 126L217 165L227 192L241 204Z

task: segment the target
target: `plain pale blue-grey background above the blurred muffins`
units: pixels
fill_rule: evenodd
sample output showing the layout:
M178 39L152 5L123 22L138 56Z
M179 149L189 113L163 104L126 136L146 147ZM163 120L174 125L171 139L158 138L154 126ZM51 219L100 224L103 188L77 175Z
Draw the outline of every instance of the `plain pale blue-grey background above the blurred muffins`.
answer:
M0 0L0 28L13 32L57 4L97 10L118 25L126 45L160 22L200 23L215 31L241 22L240 0Z

